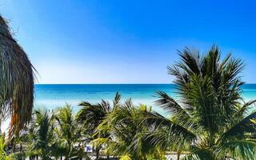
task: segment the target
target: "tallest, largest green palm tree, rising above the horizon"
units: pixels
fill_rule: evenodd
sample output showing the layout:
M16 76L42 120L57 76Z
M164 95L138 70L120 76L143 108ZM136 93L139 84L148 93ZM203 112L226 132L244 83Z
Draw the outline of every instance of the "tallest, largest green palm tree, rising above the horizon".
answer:
M181 61L168 67L175 77L178 100L159 91L157 105L170 114L146 112L151 127L143 141L162 150L190 151L186 159L254 159L256 112L244 102L241 59L228 54L221 61L217 46L202 56L186 48Z

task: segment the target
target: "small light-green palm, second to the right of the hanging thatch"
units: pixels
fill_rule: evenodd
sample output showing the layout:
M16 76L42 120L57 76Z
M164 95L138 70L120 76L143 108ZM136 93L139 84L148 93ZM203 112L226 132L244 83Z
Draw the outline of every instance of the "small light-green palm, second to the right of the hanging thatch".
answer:
M62 155L68 159L82 158L83 154L81 147L76 145L81 141L82 127L78 125L72 114L70 105L58 108L55 113L55 133L58 137L58 148L62 149Z

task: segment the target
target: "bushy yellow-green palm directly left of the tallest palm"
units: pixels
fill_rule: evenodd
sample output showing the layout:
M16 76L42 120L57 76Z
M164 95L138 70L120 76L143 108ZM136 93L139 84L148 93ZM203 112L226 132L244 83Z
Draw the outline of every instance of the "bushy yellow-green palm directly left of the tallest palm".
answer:
M141 123L145 112L151 109L145 105L134 106L130 99L116 106L98 125L98 138L93 143L106 144L107 152L122 159L162 159L160 150L142 145L141 135L149 131ZM101 133L108 133L108 137Z

